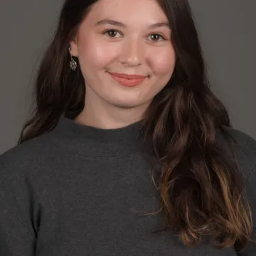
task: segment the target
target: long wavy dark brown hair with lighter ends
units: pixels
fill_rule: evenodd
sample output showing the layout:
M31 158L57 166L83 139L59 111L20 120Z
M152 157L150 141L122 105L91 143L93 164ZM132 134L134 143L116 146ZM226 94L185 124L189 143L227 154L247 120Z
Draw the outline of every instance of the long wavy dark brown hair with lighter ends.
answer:
M223 154L215 134L230 140L228 112L210 91L205 63L187 0L158 0L169 18L176 51L171 80L144 114L143 136L161 164L156 185L165 229L176 230L188 246L211 235L217 247L242 250L252 235L252 213L242 174ZM36 79L36 109L18 144L54 129L62 115L84 107L80 67L69 68L69 41L96 1L66 0L53 41ZM78 59L77 59L78 61ZM154 168L152 168L152 171Z

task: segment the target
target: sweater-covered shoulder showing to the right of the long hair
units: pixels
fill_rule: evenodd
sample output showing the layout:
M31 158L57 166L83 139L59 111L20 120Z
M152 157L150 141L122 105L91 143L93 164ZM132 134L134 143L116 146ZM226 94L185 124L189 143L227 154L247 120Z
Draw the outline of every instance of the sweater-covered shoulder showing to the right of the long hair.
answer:
M228 141L225 135L220 130L217 130L217 142L226 152L230 152L231 148L233 149L243 174L245 177L250 176L256 164L256 140L245 134L245 132L231 127L225 127L225 132L228 133L232 140Z

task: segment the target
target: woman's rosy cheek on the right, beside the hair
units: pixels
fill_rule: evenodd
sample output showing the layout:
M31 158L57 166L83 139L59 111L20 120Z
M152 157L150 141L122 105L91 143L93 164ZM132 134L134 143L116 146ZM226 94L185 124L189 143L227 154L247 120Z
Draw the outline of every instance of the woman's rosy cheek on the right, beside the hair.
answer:
M149 63L154 75L170 75L173 73L176 55L174 48L155 50L149 56Z

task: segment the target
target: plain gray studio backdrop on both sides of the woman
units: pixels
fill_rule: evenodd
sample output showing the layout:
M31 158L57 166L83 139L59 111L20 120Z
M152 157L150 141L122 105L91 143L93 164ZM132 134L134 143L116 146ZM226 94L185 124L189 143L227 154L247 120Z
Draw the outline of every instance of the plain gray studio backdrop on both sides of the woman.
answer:
M256 139L255 0L191 0L216 95L235 129ZM63 0L0 1L0 154L16 145L33 78Z

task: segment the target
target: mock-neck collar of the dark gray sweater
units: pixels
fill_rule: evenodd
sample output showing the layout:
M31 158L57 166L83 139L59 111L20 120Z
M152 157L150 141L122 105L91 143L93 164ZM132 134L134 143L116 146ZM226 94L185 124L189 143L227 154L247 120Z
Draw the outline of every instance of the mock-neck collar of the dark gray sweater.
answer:
M56 136L61 137L71 150L85 156L125 157L141 153L143 150L139 140L142 121L116 129L100 129L78 124L74 119L60 117L55 127Z

